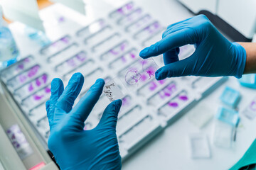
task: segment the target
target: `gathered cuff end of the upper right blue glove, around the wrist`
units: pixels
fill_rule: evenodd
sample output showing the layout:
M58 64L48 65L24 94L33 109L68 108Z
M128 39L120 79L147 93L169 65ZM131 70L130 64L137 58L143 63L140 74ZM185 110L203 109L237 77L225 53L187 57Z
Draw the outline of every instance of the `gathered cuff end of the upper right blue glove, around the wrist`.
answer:
M238 42L233 42L231 49L231 57L233 60L233 76L240 79L242 74L245 72L245 63L246 63L246 51L242 45Z

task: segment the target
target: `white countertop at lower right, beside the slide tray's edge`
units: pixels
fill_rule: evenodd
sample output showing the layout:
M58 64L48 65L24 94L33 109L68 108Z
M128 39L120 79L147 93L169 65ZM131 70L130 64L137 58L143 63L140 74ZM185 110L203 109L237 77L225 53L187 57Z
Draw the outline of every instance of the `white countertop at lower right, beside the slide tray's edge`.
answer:
M240 114L235 146L231 149L223 149L213 145L213 120L210 120L201 129L188 120L188 115L193 111L200 110L203 105L208 106L213 113L216 113L218 107L221 106L219 96L225 86L230 86L242 94L242 99L238 105L239 111L243 111L250 100L256 96L255 90L240 86L237 79L230 77L228 81L199 102L191 111L169 125L163 133L127 159L123 164L123 169L229 169L238 162L255 140L255 120L248 120ZM192 159L190 156L191 148L188 143L188 135L198 132L208 136L211 150L209 159Z

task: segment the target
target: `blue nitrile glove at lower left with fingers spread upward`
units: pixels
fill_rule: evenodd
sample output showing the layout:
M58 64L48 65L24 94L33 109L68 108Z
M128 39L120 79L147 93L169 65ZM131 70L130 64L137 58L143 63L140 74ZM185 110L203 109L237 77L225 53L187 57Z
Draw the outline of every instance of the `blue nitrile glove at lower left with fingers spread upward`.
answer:
M60 169L121 169L116 124L122 101L107 106L96 128L83 130L105 84L103 79L97 79L73 108L83 82L82 74L75 73L64 90L63 82L53 79L50 100L46 102L48 147Z

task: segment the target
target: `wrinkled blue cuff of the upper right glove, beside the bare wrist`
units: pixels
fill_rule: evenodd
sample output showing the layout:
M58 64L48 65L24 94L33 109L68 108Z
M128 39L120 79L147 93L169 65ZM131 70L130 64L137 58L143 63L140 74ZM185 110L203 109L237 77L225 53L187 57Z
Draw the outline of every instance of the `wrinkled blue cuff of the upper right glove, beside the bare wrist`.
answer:
M242 77L242 74L245 71L245 63L246 63L246 51L245 48L242 47L242 45L238 44L237 42L232 43L235 47L235 58L236 58L236 71L235 71L235 77L240 79Z

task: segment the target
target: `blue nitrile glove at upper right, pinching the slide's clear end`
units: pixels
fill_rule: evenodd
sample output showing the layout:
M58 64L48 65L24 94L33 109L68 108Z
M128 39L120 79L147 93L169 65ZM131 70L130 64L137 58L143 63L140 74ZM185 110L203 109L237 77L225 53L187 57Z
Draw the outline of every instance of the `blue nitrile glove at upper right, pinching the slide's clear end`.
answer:
M179 47L193 44L196 51L178 61ZM238 43L221 35L206 16L199 15L174 23L163 33L163 38L139 55L142 58L164 54L164 67L156 71L156 79L181 76L242 77L246 52Z

